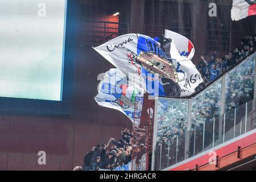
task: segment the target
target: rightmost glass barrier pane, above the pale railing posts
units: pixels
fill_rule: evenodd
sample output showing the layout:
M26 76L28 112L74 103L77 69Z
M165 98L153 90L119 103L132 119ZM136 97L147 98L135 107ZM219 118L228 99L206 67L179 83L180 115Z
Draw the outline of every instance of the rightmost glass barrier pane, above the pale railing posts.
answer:
M253 100L255 56L225 76L225 111Z

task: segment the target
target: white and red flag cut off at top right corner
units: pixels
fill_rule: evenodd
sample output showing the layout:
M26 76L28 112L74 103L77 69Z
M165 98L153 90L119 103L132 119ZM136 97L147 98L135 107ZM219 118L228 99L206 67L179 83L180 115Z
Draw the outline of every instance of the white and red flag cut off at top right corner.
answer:
M233 21L238 21L251 15L256 15L256 0L233 0L231 10Z

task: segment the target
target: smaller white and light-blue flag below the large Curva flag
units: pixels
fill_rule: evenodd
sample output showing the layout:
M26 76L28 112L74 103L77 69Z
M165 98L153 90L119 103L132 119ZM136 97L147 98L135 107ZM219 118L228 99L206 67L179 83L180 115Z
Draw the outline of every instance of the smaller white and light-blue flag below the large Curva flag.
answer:
M139 118L141 115L143 93L140 86L129 82L125 74L113 68L101 79L95 100L98 105L121 111L131 121L139 122L134 117Z

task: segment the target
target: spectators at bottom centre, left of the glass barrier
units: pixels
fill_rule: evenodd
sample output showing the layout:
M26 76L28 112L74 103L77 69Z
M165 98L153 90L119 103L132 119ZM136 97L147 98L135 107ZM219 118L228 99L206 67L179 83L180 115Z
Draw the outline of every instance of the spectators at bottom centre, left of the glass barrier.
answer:
M110 138L108 143L99 143L84 157L84 165L75 171L131 171L146 168L147 127L127 128L121 131L122 139ZM133 160L133 166L132 166Z

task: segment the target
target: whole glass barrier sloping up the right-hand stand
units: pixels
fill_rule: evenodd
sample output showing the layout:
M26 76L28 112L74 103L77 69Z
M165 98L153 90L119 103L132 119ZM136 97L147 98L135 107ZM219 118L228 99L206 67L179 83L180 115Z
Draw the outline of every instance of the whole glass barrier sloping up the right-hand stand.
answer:
M222 78L192 99L190 131L187 131L188 100L159 98L156 169L185 159L186 137L190 158L256 127L256 103L252 101L254 66L255 56L224 76L225 114L220 115Z

